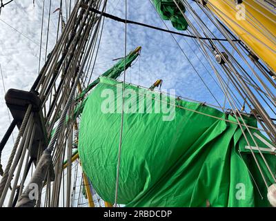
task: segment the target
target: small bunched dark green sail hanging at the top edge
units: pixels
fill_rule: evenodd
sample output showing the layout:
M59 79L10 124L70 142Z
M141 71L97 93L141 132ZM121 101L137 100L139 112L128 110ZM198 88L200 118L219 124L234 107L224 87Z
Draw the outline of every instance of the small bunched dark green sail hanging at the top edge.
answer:
M186 30L188 28L188 23L181 14L179 8L175 5L172 0L153 0L155 8L162 19L170 20L172 26L177 30ZM182 12L185 12L186 9L182 4L179 4Z

